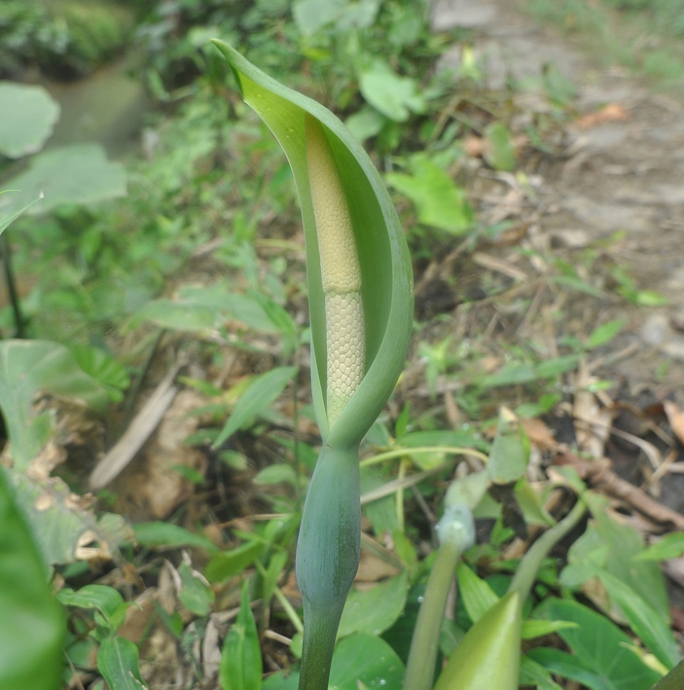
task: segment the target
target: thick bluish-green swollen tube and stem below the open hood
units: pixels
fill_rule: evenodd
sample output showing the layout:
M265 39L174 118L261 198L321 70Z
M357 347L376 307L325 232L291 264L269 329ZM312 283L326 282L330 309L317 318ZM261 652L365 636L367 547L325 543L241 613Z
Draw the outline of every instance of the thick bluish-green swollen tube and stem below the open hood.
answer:
M337 627L360 554L359 449L323 447L297 542L305 626L300 690L327 690Z

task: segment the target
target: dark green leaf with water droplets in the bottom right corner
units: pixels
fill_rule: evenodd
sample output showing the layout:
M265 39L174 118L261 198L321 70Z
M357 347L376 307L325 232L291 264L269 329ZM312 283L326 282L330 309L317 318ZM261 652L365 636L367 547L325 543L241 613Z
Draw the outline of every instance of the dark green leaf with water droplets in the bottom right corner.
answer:
M616 624L582 604L551 597L535 609L534 617L577 624L576 628L559 630L558 635L576 654L577 661L573 665L596 674L605 682L601 689L643 690L659 678L656 671L648 668L629 649L631 639ZM549 668L536 654L531 652L530 656ZM567 671L565 669L563 674ZM577 679L574 675L567 677ZM578 680L587 684L586 680ZM591 684L590 687L598 686Z

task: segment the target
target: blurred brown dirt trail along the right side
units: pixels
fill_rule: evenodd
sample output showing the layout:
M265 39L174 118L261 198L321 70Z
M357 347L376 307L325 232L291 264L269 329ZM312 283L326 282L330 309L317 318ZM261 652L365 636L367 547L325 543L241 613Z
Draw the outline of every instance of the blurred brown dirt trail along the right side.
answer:
M575 330L588 334L598 320L625 318L626 328L608 352L608 357L621 353L608 370L608 377L623 385L621 402L645 405L670 398L684 407L683 104L622 69L598 66L593 60L598 49L596 56L588 55L570 36L540 26L522 0L442 0L434 24L474 29L473 49L486 65L491 88L504 88L509 78L538 78L546 64L554 64L576 86L578 117L606 104L624 114L588 128L571 126L561 156L526 169L537 178L536 200L520 218L532 221L537 243L564 235L579 238L578 248L589 252L604 240L601 251L613 269L623 266L640 290L667 298L664 306L637 306L619 298L597 306L593 300L583 309L583 295L573 294L568 319L578 320ZM454 49L445 61L458 64L459 56L460 49ZM597 262L587 270L615 294L611 268ZM683 510L684 475L666 480L660 499Z

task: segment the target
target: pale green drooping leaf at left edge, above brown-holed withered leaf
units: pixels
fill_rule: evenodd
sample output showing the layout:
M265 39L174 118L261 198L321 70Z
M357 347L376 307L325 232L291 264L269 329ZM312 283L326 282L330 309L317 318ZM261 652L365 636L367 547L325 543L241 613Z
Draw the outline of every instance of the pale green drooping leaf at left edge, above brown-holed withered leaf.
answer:
M45 413L31 409L39 391L78 398L93 407L107 401L103 387L78 366L64 345L46 340L0 343L0 408L18 470L26 468L46 441L49 420Z

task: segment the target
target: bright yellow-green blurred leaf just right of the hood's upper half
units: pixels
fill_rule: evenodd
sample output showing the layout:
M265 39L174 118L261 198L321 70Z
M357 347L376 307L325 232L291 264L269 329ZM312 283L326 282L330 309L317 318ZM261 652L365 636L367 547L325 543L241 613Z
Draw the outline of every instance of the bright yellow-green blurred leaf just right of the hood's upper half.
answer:
M424 225L462 235L471 227L473 212L465 190L428 158L415 158L412 174L388 173L387 182L416 206Z

